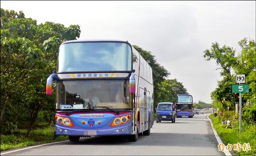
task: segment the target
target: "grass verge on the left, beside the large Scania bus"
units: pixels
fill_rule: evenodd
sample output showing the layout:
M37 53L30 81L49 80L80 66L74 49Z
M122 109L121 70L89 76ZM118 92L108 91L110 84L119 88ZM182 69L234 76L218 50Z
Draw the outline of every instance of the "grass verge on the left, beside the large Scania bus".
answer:
M55 127L50 126L43 129L33 130L27 138L25 138L26 130L17 130L12 135L1 134L1 151L10 150L30 145L40 145L50 142L58 142L68 140L67 136L54 136Z

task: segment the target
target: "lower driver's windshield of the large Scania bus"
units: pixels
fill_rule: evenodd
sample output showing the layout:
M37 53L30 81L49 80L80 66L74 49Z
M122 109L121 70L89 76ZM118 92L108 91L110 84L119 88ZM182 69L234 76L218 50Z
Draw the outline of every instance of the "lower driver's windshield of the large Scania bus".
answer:
M95 107L131 109L127 80L63 80L56 87L56 109L72 111ZM68 109L68 110L67 110Z

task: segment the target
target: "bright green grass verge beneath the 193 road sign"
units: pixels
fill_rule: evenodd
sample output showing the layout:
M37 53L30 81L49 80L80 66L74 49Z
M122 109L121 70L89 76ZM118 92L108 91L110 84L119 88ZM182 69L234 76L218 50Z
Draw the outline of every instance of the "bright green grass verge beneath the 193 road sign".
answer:
M222 141L225 146L227 144L241 144L243 146L244 143L250 143L250 149L248 151L244 151L243 148L240 148L240 151L235 150L240 156L256 156L256 125L242 122L242 130L241 134L239 133L239 120L232 123L232 129L226 128L227 125L221 124L218 116L213 117L209 116L212 119L212 124L217 133L222 137Z

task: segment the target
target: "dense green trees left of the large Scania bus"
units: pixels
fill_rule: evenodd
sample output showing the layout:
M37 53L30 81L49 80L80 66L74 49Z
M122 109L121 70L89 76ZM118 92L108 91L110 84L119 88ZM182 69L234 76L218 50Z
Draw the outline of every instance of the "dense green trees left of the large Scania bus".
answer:
M28 135L40 111L48 112L44 119L51 121L55 98L45 95L46 79L55 70L59 45L76 40L80 27L52 22L37 25L22 11L1 8L0 15L1 133L29 122Z

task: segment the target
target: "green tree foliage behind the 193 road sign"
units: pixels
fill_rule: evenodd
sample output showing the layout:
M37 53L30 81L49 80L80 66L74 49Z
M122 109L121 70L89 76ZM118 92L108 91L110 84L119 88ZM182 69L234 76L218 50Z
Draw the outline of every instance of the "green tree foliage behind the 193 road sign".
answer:
M227 110L235 109L235 99L232 93L232 85L236 84L236 74L245 74L246 83L249 85L249 93L242 94L243 100L250 100L252 105L256 103L256 43L247 38L239 41L241 53L236 56L236 51L227 45L219 47L218 43L212 43L211 49L204 51L203 57L207 61L215 60L221 69L223 79L218 81L218 87L212 91L211 97L218 108Z

